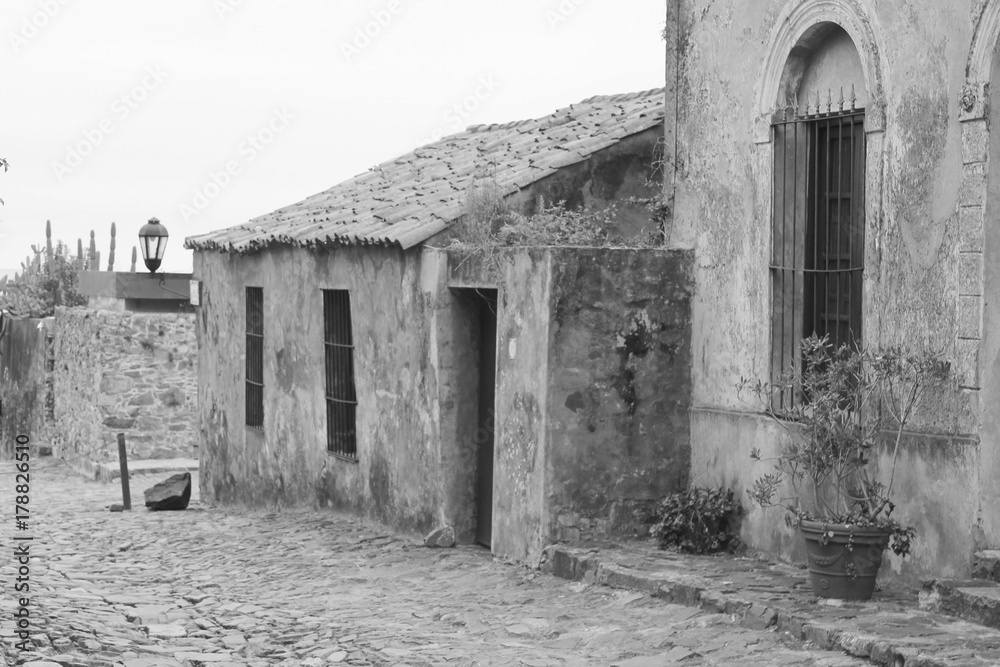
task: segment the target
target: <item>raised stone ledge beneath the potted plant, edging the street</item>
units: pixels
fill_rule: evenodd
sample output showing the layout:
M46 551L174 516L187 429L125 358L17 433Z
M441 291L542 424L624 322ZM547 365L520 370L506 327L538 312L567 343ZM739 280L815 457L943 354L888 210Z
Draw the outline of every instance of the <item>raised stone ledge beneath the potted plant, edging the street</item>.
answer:
M541 569L558 577L640 590L668 602L729 614L748 629L788 633L877 665L1000 664L1000 634L919 609L915 596L904 598L890 592L876 594L883 599L872 602L820 601L806 585L805 571L793 566L667 552L657 558L649 547L631 547L613 546L605 553L551 545L544 550ZM970 636L979 642L975 657ZM961 662L955 662L959 656Z

